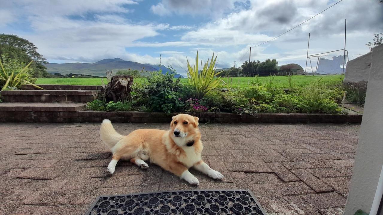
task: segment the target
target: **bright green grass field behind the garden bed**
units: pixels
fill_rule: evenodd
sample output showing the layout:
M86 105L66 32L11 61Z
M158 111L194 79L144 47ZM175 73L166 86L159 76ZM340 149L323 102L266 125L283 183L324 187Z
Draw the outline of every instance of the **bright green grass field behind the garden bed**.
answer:
M294 75L291 76L291 81L296 86L304 86L311 81L322 78L325 81L332 82L334 84L340 83L344 76L342 75L324 75L324 76L304 76ZM246 87L251 81L269 82L272 77L238 77L238 78L222 78L227 83L226 87ZM103 78L104 83L107 83L106 78ZM134 81L143 81L144 78L135 78ZM187 78L181 79L182 83L188 83ZM101 78L39 78L36 84L53 84L53 85L101 85ZM273 84L280 85L281 87L288 87L287 76L275 76Z

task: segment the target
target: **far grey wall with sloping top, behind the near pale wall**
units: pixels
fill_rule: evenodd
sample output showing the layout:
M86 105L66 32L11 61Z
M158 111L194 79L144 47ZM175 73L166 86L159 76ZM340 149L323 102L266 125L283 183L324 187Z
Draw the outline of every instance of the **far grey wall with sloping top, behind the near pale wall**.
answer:
M367 82L370 75L371 56L372 52L368 52L365 55L347 62L346 72L344 74L344 82Z

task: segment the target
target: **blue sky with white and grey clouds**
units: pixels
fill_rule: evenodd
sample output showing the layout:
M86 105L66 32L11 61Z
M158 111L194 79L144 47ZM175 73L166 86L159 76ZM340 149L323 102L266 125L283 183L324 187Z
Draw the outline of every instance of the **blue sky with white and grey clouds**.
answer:
M218 67L249 59L249 47L293 28L338 0L2 0L0 33L28 39L52 63L93 63L119 57L172 65L218 54ZM350 59L383 31L383 3L343 0L272 42L252 48L251 60L276 58L305 66L309 54L342 49L344 20ZM247 52L247 53L246 53ZM336 53L343 54L342 52Z

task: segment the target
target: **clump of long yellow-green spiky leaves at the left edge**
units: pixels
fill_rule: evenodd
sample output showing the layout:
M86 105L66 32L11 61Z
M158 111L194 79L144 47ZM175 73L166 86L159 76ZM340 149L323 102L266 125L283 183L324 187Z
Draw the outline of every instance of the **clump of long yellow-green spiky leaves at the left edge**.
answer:
M1 90L15 90L23 84L30 84L37 88L43 89L33 83L36 78L33 78L34 71L29 68L29 64L24 64L15 59L8 59L4 55L0 57L0 87Z

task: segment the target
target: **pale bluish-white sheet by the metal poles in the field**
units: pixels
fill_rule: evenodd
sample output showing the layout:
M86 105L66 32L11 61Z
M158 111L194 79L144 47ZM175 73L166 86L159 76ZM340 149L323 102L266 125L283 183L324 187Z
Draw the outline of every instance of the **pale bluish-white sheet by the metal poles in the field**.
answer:
M319 57L318 68L316 73L326 75L326 74L340 74L342 69L340 65L343 65L342 62L346 63L346 58L343 55L334 56L333 59L325 59Z

